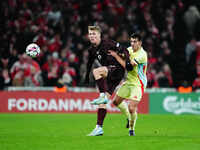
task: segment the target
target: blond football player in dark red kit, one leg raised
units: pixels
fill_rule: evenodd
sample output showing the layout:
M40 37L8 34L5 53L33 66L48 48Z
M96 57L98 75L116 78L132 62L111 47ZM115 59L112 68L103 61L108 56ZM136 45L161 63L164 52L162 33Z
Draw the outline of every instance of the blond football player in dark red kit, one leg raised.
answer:
M88 49L89 57L85 83L89 83L89 74L94 60L97 59L101 64L100 67L93 70L93 75L100 93L99 97L91 102L91 104L99 105L97 125L88 136L99 136L103 135L102 127L107 113L106 104L108 103L108 99L123 79L125 73L125 69L109 54L109 50L117 52L117 54L122 57L129 58L129 56L128 53L126 53L127 51L124 50L119 43L113 40L103 40L101 38L101 28L99 26L88 26L88 37L91 46ZM128 107L125 106L125 103L121 103L120 105L128 111Z

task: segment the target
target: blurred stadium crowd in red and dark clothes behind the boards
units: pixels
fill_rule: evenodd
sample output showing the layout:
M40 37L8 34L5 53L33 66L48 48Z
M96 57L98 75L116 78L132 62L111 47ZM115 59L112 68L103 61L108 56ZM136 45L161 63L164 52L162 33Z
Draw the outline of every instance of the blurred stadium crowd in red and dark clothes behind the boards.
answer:
M200 87L199 0L1 1L0 87L83 86L87 26L124 46L140 32L148 52L148 87ZM24 54L37 43L38 58ZM94 86L91 84L91 86Z

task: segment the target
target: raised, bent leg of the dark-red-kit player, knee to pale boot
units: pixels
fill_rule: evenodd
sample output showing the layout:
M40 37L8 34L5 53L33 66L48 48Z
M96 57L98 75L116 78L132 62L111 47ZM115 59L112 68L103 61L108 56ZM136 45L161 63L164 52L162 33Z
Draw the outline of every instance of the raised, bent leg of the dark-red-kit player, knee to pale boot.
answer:
M91 104L99 105L99 104L106 104L108 103L108 95L107 95L107 75L108 75L108 69L107 67L99 67L93 70L93 75L95 78L95 81L97 83L100 95L97 99L94 99Z

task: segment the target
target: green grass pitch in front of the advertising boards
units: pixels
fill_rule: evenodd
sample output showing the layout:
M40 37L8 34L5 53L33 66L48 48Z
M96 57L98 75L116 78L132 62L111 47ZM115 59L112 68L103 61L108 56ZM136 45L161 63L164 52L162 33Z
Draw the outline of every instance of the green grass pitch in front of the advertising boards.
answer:
M200 116L107 114L104 136L87 137L96 114L0 114L0 150L199 150Z

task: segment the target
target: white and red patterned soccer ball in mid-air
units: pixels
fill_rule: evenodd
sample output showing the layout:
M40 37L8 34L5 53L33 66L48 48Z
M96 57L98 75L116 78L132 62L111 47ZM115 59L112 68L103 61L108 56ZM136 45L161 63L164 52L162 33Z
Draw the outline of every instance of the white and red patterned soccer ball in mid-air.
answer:
M35 43L31 43L26 47L26 54L31 57L37 57L40 54L40 47Z

